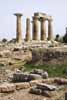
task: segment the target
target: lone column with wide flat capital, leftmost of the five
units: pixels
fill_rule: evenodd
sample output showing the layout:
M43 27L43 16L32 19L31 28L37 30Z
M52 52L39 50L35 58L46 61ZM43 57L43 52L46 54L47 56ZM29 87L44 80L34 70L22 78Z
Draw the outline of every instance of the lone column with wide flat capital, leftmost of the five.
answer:
M14 15L17 17L16 41L17 41L17 43L21 43L22 42L22 29L21 29L21 16L22 16L22 14L15 13Z

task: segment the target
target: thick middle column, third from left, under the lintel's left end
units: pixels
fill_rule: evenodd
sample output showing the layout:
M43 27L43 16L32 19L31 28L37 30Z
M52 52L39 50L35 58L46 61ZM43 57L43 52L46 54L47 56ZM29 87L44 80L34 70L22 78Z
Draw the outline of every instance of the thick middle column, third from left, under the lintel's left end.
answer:
M39 30L39 25L38 25L38 21L39 21L39 18L38 16L33 16L33 40L38 40L38 30Z

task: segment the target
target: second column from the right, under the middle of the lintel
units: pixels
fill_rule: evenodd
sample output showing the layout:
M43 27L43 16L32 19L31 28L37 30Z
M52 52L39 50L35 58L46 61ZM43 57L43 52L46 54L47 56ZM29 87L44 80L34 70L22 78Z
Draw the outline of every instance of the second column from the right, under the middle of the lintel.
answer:
M41 17L40 22L41 22L41 40L46 40L46 19L44 17Z

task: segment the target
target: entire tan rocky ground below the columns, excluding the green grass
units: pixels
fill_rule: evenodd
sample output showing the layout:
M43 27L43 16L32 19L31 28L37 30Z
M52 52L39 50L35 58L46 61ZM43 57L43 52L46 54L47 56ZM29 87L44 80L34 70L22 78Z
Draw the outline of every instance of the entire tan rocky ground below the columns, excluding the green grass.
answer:
M17 45L11 46L10 44L0 46L0 100L64 100L64 94L67 92L67 79L55 80L54 78L53 80L56 83L51 82L52 79L44 71L14 74L16 71L19 72L20 70L17 69L22 69L26 62L67 64L67 46L53 47L52 45L48 45L47 47L47 44L44 43L37 44L33 43L32 45L28 43L23 47ZM36 48L38 49L36 50ZM8 76L12 74L15 75L11 83L13 85L10 84L10 80L8 79ZM39 80L37 80L38 78ZM42 80L43 78L44 80ZM50 81L46 82L46 78ZM31 82L32 79L35 82ZM15 81L19 82L19 84L15 83ZM25 84L23 81L28 82L28 84ZM34 93L31 93L31 88L38 83L44 83L44 85L46 83L47 85L57 86L60 89L45 92L42 90L43 84L41 84L39 90L36 88L34 89ZM52 93L54 93L53 96L50 96Z

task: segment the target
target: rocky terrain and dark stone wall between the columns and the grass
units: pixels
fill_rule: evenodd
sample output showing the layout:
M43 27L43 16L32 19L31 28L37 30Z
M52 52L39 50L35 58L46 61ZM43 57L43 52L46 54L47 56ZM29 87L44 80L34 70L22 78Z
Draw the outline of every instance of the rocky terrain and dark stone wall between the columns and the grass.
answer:
M0 45L0 66L17 68L26 62L42 62L43 64L67 64L67 46L51 46L50 43L25 43L1 44Z

